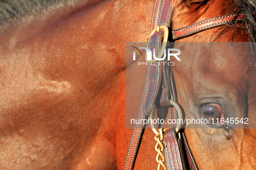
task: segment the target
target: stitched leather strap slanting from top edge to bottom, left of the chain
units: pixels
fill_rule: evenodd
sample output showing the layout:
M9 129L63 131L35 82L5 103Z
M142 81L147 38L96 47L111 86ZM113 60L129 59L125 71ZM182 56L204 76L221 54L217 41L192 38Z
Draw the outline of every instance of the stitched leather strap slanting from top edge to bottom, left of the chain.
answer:
M156 28L156 25L159 24L170 27L171 15L171 0L156 0L152 15L151 31L152 29ZM158 52L158 49L160 49L157 42L159 42L161 39L162 31L159 31L156 34L152 35L152 37L149 39L149 47L155 48L156 53ZM141 100L141 107L139 108L137 119L145 119L146 116L148 116L151 112L155 104L156 95L159 91L159 87L161 84L161 75L162 65L148 66L143 97ZM128 153L126 156L124 170L133 170L138 145L141 140L141 133L143 132L141 128L143 128L142 125L137 124L133 130L133 136L130 141Z

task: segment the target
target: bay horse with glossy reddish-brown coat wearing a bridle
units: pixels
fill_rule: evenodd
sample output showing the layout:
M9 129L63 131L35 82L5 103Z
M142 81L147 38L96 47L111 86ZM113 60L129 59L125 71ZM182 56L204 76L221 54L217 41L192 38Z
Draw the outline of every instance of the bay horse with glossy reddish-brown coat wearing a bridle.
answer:
M126 129L125 44L146 41L153 6L153 0L1 1L0 169L123 169L133 131ZM255 0L172 0L172 30L244 13L244 22L178 42L255 41L255 9ZM255 58L212 56L210 65L196 59L172 68L184 113L201 94L219 93L233 106L226 112L253 124ZM146 72L137 76L133 112ZM229 133L226 140L226 129L185 129L199 169L256 168L255 129ZM145 129L134 169L157 168L155 143Z

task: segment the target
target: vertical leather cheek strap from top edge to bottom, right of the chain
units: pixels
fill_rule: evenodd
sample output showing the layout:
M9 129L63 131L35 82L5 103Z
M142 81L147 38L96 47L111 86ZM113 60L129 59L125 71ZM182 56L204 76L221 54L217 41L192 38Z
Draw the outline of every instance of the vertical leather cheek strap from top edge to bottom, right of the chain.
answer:
M170 27L172 18L172 1L171 0L156 0L154 12L152 16L152 29L156 28L157 25L165 25ZM161 39L162 31L156 32L153 36L156 38L150 38L149 42L159 42ZM156 36L158 35L158 36ZM151 47L151 46L149 46ZM159 47L157 50L160 49ZM172 73L172 68L165 65L162 67L162 95L160 99L160 107L171 107L169 102L170 98L177 101L175 83ZM176 113L174 108L169 108L170 117L176 119ZM176 127L173 124L172 127ZM164 133L163 143L165 145L165 160L168 170L185 170L185 163L183 153L181 152L181 142L178 143L176 132L174 129Z

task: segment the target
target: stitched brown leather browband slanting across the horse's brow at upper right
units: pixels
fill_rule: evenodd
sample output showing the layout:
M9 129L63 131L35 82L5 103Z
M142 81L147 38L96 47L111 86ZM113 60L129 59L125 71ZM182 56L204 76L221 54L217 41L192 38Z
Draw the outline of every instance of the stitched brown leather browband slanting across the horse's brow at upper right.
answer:
M218 16L216 18L207 19L202 22L198 22L193 25L189 25L187 27L172 31L172 38L173 40L186 38L188 36L197 34L198 32L201 32L207 29L211 29L221 25L226 25L227 22L232 22L232 21L238 22L244 18L245 16L243 14L232 14L232 15Z

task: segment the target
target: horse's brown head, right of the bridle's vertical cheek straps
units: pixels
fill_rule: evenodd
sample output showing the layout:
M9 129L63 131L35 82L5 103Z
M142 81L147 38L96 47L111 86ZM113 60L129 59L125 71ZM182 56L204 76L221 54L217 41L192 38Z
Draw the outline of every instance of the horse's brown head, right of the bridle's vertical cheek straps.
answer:
M254 2L255 3L255 2ZM243 5L247 4L247 6ZM187 118L205 118L205 111L214 108L222 113L225 120L248 118L254 128L256 109L256 69L255 54L251 56L255 41L248 28L255 26L248 20L250 5L243 1L224 0L173 0L172 30L187 27L217 16L243 13L246 19L240 23L227 23L177 40L179 42L206 43L215 49L206 51L200 44L190 44L182 48L184 58L172 67L177 88L178 103ZM246 12L246 10L248 10ZM222 43L216 43L222 42ZM227 43L223 43L227 42ZM242 43L246 42L246 43ZM254 45L254 44L253 44ZM236 50L234 50L236 49ZM214 104L217 106L214 107ZM205 108L204 105L212 105ZM216 113L214 113L216 114ZM238 120L237 119L237 120ZM207 126L207 125L206 125ZM232 127L207 129L185 129L188 143L199 169L254 169L256 154L254 150L255 129L232 129Z

